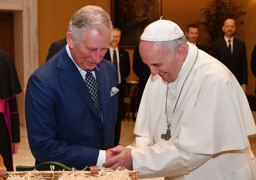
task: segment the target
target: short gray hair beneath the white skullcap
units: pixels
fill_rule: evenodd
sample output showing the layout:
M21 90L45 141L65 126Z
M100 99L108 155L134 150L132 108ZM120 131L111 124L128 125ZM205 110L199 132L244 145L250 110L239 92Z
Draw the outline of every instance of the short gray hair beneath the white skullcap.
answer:
M182 36L178 39L174 39L171 41L163 41L163 46L162 46L162 50L164 53L175 53L177 48L181 45L184 45L186 47L186 51L187 51L187 46L186 46L186 36Z

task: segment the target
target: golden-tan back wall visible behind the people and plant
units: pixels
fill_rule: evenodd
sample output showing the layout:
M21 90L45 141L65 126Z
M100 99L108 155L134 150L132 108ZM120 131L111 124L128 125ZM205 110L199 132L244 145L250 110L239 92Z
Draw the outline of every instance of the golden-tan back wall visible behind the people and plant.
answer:
M177 23L185 32L186 25L192 22L201 21L199 10L205 7L210 0L185 0L182 4L180 1L162 0L163 19L171 20ZM183 2L183 1L182 1ZM255 78L250 71L250 55L254 44L256 44L255 27L256 27L256 1L255 0L237 0L237 3L244 6L247 14L243 17L245 25L238 27L238 30L246 32L246 37L238 37L245 41L248 57L248 93L254 94ZM70 18L79 8L86 5L98 5L110 13L110 0L38 0L38 38L39 38L39 65L45 62L48 49L52 42L63 39ZM203 44L206 33L200 31L198 43ZM131 58L133 49L126 49ZM127 80L137 80L136 75L131 71Z

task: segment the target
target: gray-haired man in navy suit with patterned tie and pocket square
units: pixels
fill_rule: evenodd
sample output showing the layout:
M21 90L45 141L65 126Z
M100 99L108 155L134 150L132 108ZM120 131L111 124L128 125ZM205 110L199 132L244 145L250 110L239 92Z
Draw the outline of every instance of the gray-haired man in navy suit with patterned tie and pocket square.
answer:
M117 72L103 59L111 38L109 14L85 6L71 18L67 46L29 78L25 115L36 165L82 170L114 156Z

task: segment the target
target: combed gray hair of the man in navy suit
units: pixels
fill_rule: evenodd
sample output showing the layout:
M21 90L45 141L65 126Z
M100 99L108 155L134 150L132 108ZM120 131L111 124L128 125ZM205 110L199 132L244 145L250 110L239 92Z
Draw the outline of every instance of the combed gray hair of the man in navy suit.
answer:
M110 38L113 36L110 15L99 6L85 6L72 16L68 32L72 33L75 46L84 39L85 30L90 29L97 29L101 36L110 30Z

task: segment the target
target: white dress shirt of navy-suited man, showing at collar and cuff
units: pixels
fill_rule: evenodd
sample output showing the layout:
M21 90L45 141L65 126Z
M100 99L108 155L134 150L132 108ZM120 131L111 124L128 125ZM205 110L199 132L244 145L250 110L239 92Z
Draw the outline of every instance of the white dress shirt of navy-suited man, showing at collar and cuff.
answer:
M69 56L69 57L71 58L71 60L75 63L75 61L73 60L73 58L72 58L72 56L71 56L71 53L70 53L70 49L69 49L69 47L68 47L68 44L66 45L66 50L67 50L68 56ZM83 70L83 69L81 69L81 68L79 68L79 66L78 66L76 63L75 63L75 65L77 66L78 71L81 73L81 75L82 75L82 77L83 77L83 80L85 81L86 71ZM93 74L93 76L94 76L95 79L96 79L94 70L92 70L92 74ZM103 118L103 116L102 116L102 118ZM102 123L103 123L103 121L102 121ZM99 156L98 156L98 160L97 160L96 166L98 166L99 168L102 168L102 169L103 169L102 164L103 164L104 162L106 162L106 151L100 150L100 153L99 153Z

